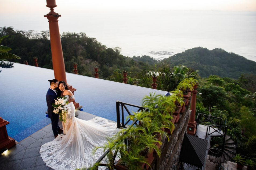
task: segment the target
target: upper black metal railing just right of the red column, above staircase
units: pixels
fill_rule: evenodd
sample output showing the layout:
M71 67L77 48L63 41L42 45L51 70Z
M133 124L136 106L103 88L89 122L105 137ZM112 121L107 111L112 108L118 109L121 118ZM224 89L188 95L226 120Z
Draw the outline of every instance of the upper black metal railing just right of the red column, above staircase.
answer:
M197 124L221 126L222 118L199 113L196 117L196 122Z

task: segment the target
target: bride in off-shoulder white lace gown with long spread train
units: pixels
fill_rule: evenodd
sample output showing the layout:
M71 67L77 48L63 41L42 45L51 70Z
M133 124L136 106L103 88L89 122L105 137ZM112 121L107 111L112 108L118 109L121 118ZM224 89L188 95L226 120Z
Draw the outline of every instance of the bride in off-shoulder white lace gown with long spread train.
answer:
M64 81L59 82L59 89L71 107L66 123L62 122L64 134L42 145L39 152L46 165L56 170L89 167L103 155L99 150L92 156L91 150L103 144L107 136L116 134L118 129L115 123L104 118L95 117L88 121L76 118L74 95Z

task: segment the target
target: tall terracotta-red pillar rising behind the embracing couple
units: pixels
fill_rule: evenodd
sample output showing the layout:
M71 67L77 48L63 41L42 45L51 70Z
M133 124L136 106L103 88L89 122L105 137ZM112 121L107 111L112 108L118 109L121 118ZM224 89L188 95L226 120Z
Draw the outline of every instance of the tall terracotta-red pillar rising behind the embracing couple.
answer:
M44 17L46 17L49 22L54 77L59 81L65 81L67 83L65 64L64 64L62 46L60 41L59 24L58 24L58 18L61 17L61 15L54 12L53 8L57 6L55 0L46 0L46 3L47 3L46 6L49 7L51 10ZM74 91L76 91L76 89L73 88L71 85L68 85L68 88L73 94L74 94ZM73 103L75 105L75 108L79 107L79 103L75 101L73 101Z

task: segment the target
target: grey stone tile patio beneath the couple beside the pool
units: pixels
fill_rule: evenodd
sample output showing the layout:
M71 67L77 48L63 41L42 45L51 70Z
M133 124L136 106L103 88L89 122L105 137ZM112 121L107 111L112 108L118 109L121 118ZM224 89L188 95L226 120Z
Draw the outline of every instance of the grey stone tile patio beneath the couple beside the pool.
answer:
M95 115L76 110L77 118L89 120ZM113 122L113 121L112 121ZM115 122L116 123L116 122ZM61 125L61 122L59 122ZM52 141L54 135L51 124L30 135L26 139L16 142L16 145L8 150L5 155L0 155L0 170L49 170L41 159L39 149L42 144Z

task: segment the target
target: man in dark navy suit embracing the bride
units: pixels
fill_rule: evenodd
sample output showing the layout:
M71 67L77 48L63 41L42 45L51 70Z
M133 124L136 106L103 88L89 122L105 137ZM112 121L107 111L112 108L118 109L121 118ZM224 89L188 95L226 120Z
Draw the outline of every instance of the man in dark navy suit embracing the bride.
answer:
M55 114L52 112L53 106L52 103L55 102L55 99L57 99L57 92L56 89L58 88L58 80L53 79L53 80L48 80L50 82L50 88L48 89L46 93L46 103L47 103L47 112L49 118L51 118L52 121L52 131L54 134L54 137L56 138L58 136L58 132L61 133L63 132L63 129L60 129L58 123L59 123L59 114Z

